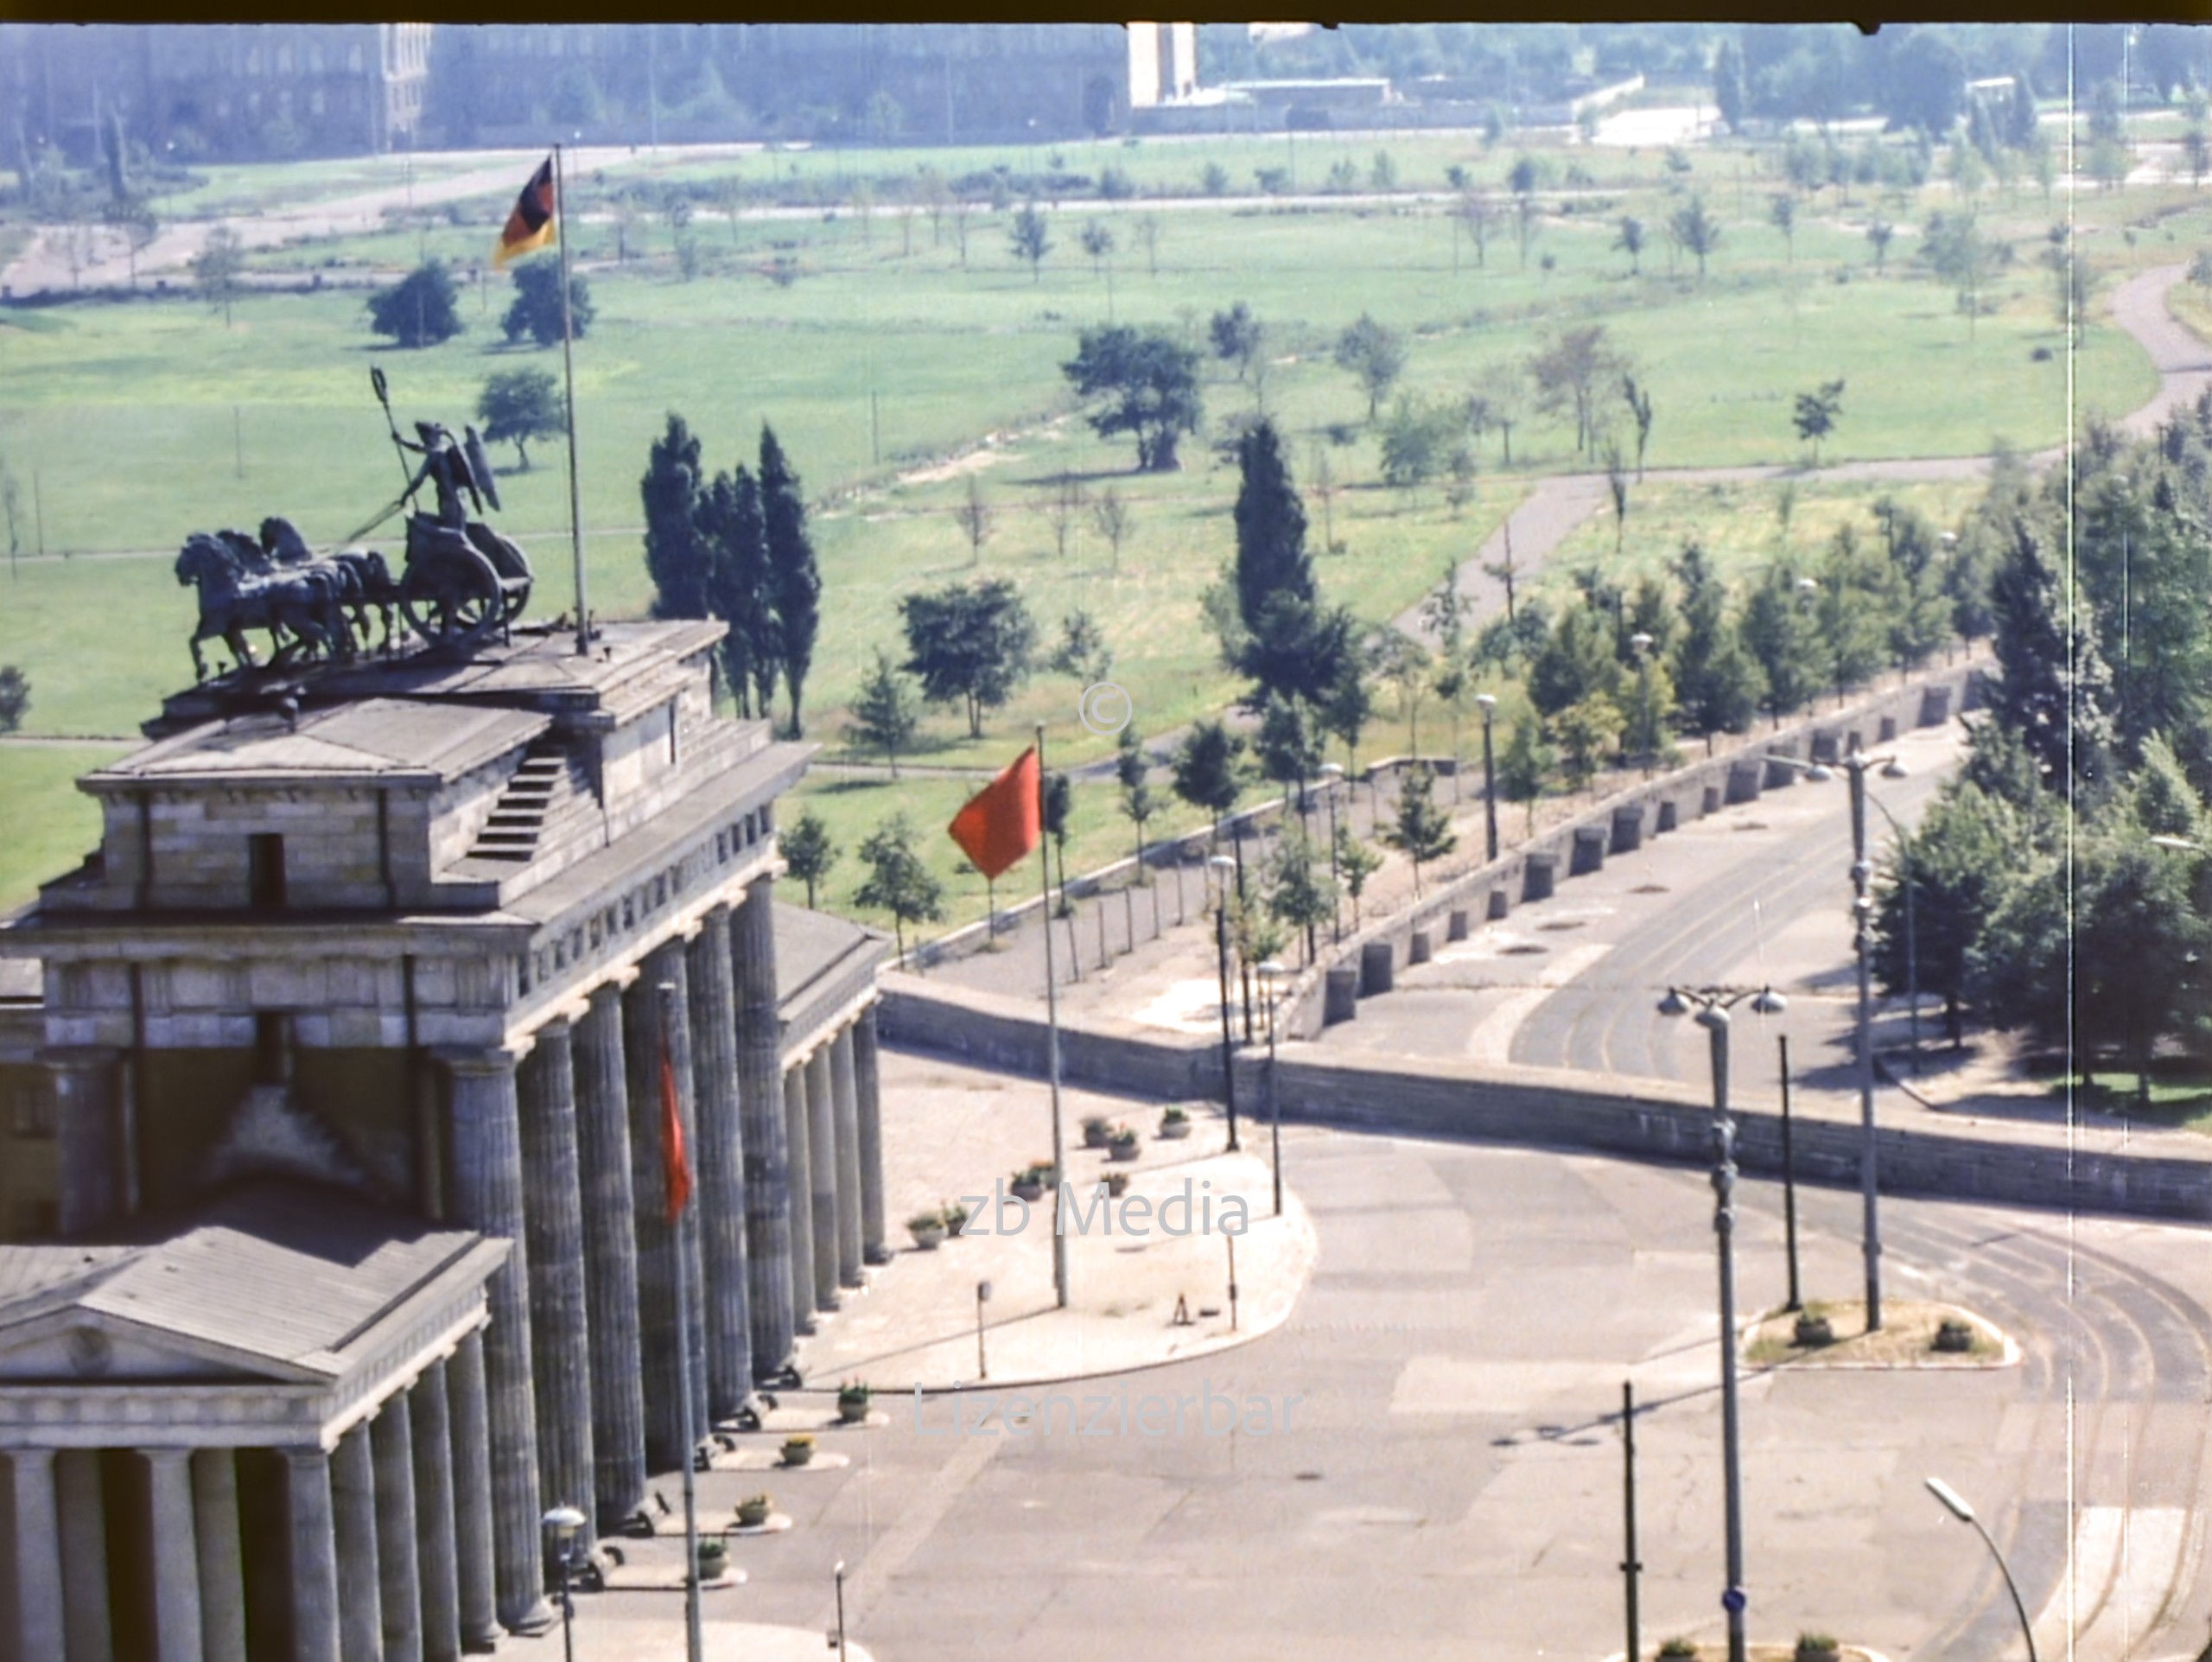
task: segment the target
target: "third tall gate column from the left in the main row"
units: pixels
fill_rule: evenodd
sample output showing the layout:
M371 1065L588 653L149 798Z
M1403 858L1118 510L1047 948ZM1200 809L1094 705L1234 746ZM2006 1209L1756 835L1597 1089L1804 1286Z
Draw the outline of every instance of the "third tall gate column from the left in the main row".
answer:
M575 1029L575 1138L584 1191L584 1328L591 1337L591 1458L599 1529L646 1498L644 1352L637 1346L637 1226L622 989L591 994Z

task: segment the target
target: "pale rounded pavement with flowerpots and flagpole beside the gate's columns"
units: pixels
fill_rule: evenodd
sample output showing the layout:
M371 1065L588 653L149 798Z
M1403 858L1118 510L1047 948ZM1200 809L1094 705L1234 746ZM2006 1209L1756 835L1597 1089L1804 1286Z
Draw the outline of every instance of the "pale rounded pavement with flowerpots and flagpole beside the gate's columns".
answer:
M807 1390L779 1392L785 1407L812 1410L812 1392L854 1379L878 1394L916 1385L933 1392L973 1385L982 1372L995 1388L1188 1361L1281 1326L1312 1273L1314 1228L1298 1197L1285 1188L1283 1215L1272 1215L1265 1124L1243 1120L1243 1151L1228 1153L1228 1124L1210 1102L1183 1104L1194 1131L1170 1142L1157 1135L1166 1104L1064 1087L1066 1173L1077 1208L1064 1237L1071 1303L1060 1310L1053 1195L1046 1191L1024 1208L1002 1188L1018 1168L1051 1160L1048 1087L885 1049L883 1102L896 1250L887 1266L869 1270L865 1288L845 1292L838 1312L816 1317L818 1330L799 1346ZM1084 1149L1086 1115L1139 1131L1139 1160L1108 1164L1104 1151ZM1310 1133L1285 1138L1285 1164L1296 1160L1298 1135ZM1095 1191L1108 1171L1128 1173L1130 1184L1124 1199L1102 1204ZM978 1206L975 1197L987 1199ZM1237 1202L1241 1233L1230 1230ZM969 1233L918 1250L905 1219L940 1204L964 1204L980 1215ZM1170 1226L1188 1233L1168 1233ZM991 1299L982 1306L978 1365L975 1288L984 1281ZM1177 1301L1188 1326L1175 1321Z

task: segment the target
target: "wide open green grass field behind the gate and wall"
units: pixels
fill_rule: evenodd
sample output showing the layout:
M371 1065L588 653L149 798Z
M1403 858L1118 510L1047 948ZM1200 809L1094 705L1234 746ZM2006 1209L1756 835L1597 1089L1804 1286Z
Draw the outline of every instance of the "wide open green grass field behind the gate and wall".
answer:
M1141 193L1192 190L1206 162L1230 173L1232 190L1245 190L1254 168L1294 166L1301 186L1312 188L1343 159L1360 170L1365 188L1378 148L1389 150L1400 190L1444 188L1447 166L1469 168L1495 190L1513 159L1511 148L1484 153L1471 135L1060 146L1066 170L1097 175L1117 166ZM836 752L841 706L872 651L898 644L898 598L971 573L953 520L967 476L938 465L991 436L971 467L998 522L973 571L1022 582L1046 646L1068 611L1091 611L1115 651L1115 679L1137 699L1139 730L1166 733L1217 710L1234 684L1199 624L1199 593L1232 555L1234 467L1201 434L1186 440L1181 471L1130 474L1130 447L1095 438L1073 412L1060 363L1079 328L1108 316L1183 330L1203 343L1206 316L1237 299L1270 328L1265 407L1292 436L1301 482L1312 485L1325 460L1338 487L1327 516L1345 553L1321 558L1321 580L1367 620L1409 606L1447 562L1471 555L1537 476L1593 463L1575 456L1568 427L1531 414L1513 434L1513 469L1502 465L1498 436L1484 440L1478 496L1464 511L1453 513L1436 487L1385 489L1365 396L1329 361L1336 332L1360 312L1409 334L1402 392L1416 398L1455 398L1553 330L1604 323L1652 389L1652 469L1798 463L1790 398L1832 378L1845 378L1849 392L1823 463L1984 454L1997 438L2035 449L2057 443L2084 409L2121 412L2152 392L2148 361L2099 310L2073 363L2077 398L2068 407L2051 279L2033 263L2055 215L2033 190L1993 193L1980 204L1984 226L2015 241L2022 259L1993 288L1995 314L1969 334L1951 292L1911 263L1911 226L1940 197L1880 206L1900 235L1889 270L1876 274L1863 235L1876 208L1865 193L1849 206L1836 193L1807 204L1790 250L1767 224L1767 195L1778 184L1765 157L1732 146L1690 155L1692 186L1728 221L1703 283L1686 261L1670 272L1657 250L1657 226L1677 204L1657 150L1548 153L1555 181L1577 166L1590 184L1548 201L1526 263L1509 221L1491 230L1486 261L1478 263L1444 204L1407 197L1157 210L1144 201L1066 201L1053 215L1055 246L1035 277L1009 252L1004 215L969 219L962 266L951 224L933 228L922 212L902 215L887 184L920 166L949 177L1000 164L1015 175L1053 166L1048 153L1029 155L1026 146L626 159L577 190L584 212L604 208L622 184L726 173L752 184L799 181L825 195L838 195L843 181L847 201L737 224L701 208L688 232L701 250L697 281L681 279L668 259L672 232L659 215L644 215L633 232L633 250L648 257L626 263L615 261L608 221L577 228L577 257L599 308L575 354L593 604L606 615L639 615L648 602L637 478L668 412L690 420L712 467L750 458L759 423L772 420L818 498L825 617L807 710L810 737ZM425 157L416 177L484 159ZM192 199L168 204L173 212L274 210L396 184L389 157L206 173ZM849 204L856 177L878 181L878 206L865 217ZM254 263L400 270L429 252L467 270L482 266L504 210L491 197L476 206L482 212L462 210L458 226L442 208L427 210L407 228L301 243L257 255ZM1157 219L1157 270L1124 208ZM1624 212L1655 235L1641 274L1630 274L1626 255L1613 248ZM2075 212L2079 246L2104 274L2101 292L2130 270L2185 259L2212 228L2212 210L2185 188L2084 195ZM1077 248L1093 215L1117 237L1115 255L1097 268ZM796 281L768 281L774 257L796 263ZM20 664L33 682L29 728L133 735L161 693L186 682L192 600L170 575L186 531L288 513L310 540L334 542L389 500L400 476L365 385L369 363L387 367L403 420L465 416L484 376L502 367L557 370L553 352L504 347L504 281L465 290L469 332L425 352L374 341L361 292L254 294L237 305L232 328L188 294L0 312L0 463L20 485L13 540L24 555L0 575L0 662ZM2203 299L2183 299L2183 314L2203 323L2188 305L2203 312ZM2037 363L2037 350L2051 350L2051 359ZM1225 418L1254 407L1254 389L1221 365L1208 374L1210 432L1219 434ZM509 447L500 447L500 460L513 467ZM533 460L533 471L502 474L500 522L531 549L540 571L531 611L551 617L573 604L566 482L557 445L535 445ZM1042 509L1062 474L1075 474L1093 494L1113 487L1135 507L1137 531L1119 569L1088 531L1077 533L1068 558L1055 555ZM1632 496L1624 564L1672 558L1697 533L1728 569L1756 567L1776 551L1774 489L1714 491L1655 478ZM1880 494L1871 485L1803 480L1790 544L1816 549L1838 518L1863 518ZM1949 520L1973 487L1896 494ZM1323 505L1310 502L1310 513L1318 547ZM392 529L369 542L389 547ZM1610 542L1606 516L1564 553L1568 562L1610 562ZM995 766L1020 748L1033 721L1046 719L1064 735L1055 739L1060 759L1093 759L1106 741L1073 721L1077 693L1071 677L1040 673L993 715L982 741L971 741L951 713L933 713L925 755ZM1433 733L1440 728L1425 724L1425 737ZM1400 741L1402 728L1385 721L1363 750L1378 755ZM38 755L46 761L82 752ZM42 814L69 823L71 768L9 775L9 830ZM956 806L953 786L938 783L945 803L927 794L936 786L898 792L916 803L918 823L942 823ZM887 812L891 797L880 786L807 792L849 832L847 845ZM1088 839L1097 837L1104 854L1124 834L1110 792L1099 797L1097 812L1079 814L1086 841L1077 863L1088 859ZM55 868L33 839L0 843L0 892L22 896ZM832 892L852 881L847 865Z

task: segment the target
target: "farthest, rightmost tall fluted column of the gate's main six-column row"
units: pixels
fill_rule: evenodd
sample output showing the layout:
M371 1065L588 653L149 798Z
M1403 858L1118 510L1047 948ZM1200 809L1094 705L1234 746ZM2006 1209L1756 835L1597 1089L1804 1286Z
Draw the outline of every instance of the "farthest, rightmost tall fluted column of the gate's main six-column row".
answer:
M745 1315L752 1377L792 1363L790 1135L783 1124L783 1031L776 1020L776 881L757 876L730 914L737 969L737 1100L745 1129Z

